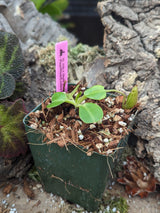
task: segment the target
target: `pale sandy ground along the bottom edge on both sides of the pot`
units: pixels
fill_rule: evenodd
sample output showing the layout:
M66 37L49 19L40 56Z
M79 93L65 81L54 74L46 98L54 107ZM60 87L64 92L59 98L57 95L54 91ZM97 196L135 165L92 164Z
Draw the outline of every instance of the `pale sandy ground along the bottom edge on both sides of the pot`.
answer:
M23 184L14 185L14 190L4 194L4 187L0 188L0 213L87 213L82 207L70 204L61 197L46 193L40 183L29 181L30 188L34 191L34 198L29 199L24 192ZM159 213L160 193L151 193L147 198L139 196L130 197L124 191L124 186L113 182L112 186L106 189L112 197L122 196L129 205L128 213ZM109 207L108 207L109 208ZM119 211L97 211L99 213Z

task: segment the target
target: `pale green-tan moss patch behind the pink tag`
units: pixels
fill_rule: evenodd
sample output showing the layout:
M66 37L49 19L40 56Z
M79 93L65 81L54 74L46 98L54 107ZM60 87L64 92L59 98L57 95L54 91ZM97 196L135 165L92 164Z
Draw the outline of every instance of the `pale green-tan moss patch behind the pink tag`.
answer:
M48 44L45 48L37 50L40 65L45 68L47 73L55 76L55 43ZM79 80L79 72L83 73L87 66L97 57L105 56L102 49L98 46L90 47L79 43L75 47L68 47L68 71L69 79L72 73L74 80Z

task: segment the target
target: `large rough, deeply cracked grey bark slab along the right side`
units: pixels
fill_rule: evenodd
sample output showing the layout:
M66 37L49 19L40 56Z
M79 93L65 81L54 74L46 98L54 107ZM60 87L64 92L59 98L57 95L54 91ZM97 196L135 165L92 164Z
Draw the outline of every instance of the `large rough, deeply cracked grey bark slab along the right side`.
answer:
M109 61L104 85L126 93L138 85L143 110L135 135L147 154L137 148L137 155L153 159L154 175L160 181L160 2L110 0L99 2L97 8Z

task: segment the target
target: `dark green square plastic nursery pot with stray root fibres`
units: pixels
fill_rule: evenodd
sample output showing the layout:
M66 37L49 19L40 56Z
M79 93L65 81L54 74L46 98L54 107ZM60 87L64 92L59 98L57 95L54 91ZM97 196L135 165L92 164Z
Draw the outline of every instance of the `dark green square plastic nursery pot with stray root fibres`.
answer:
M41 104L32 112L40 109ZM72 144L67 146L68 150L55 143L46 144L43 142L45 135L28 126L28 120L29 114L23 122L34 163L46 192L77 203L88 211L97 210L105 187L111 181L115 159L119 158L122 149L117 149L109 156L96 152L87 156L82 149ZM126 135L118 147L124 147L128 137Z

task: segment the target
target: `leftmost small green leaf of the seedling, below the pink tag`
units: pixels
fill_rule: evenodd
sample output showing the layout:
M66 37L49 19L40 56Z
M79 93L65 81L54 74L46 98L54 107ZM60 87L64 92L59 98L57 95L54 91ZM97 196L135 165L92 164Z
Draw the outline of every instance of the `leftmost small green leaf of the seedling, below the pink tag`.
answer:
M47 105L47 108L56 107L67 101L66 93L56 92L52 95L52 103Z

